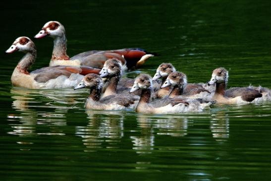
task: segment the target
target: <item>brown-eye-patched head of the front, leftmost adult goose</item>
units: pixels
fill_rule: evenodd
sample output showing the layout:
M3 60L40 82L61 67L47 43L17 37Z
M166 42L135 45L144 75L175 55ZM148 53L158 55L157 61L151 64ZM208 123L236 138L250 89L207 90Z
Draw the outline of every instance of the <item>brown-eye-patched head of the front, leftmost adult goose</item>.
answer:
M28 37L19 37L17 38L13 44L5 51L6 54L11 54L13 52L33 52L36 51L36 47L34 42Z

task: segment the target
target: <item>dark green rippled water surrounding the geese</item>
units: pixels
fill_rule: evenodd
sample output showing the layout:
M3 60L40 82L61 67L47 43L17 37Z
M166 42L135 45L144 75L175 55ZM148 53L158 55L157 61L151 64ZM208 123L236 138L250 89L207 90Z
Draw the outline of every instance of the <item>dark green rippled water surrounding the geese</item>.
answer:
M271 2L238 0L10 1L1 5L1 51L49 20L66 29L68 55L140 47L189 82L229 70L228 87L271 88ZM53 40L35 40L32 69L47 66ZM88 91L10 85L22 53L0 55L0 178L22 180L270 181L271 102L215 106L199 114L85 111Z

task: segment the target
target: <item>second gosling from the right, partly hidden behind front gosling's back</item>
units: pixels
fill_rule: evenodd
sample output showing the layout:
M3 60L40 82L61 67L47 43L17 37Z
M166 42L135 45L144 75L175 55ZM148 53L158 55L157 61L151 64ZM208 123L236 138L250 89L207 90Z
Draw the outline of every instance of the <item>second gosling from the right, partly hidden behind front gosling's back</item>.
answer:
M166 80L164 81L161 88L166 88L172 86L173 89L169 94L170 98L183 97L183 98L192 98L192 99L212 99L211 93L203 88L199 84L187 84L187 77L184 73L175 71L170 73Z

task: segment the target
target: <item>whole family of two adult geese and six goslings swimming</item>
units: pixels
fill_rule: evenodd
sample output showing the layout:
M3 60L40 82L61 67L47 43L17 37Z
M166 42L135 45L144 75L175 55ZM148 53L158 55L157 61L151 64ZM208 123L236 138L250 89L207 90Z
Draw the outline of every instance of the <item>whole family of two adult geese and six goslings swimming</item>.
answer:
M140 48L126 48L88 51L69 58L65 28L60 22L47 22L35 38L46 36L54 39L48 67L28 72L37 57L35 44L28 37L17 38L5 51L7 54L25 53L11 75L13 86L29 89L88 88L90 95L86 109L134 109L154 114L201 112L213 104L271 100L271 90L261 86L226 89L228 71L223 67L213 70L208 83L188 83L186 75L176 71L171 63L160 64L153 77L140 74L135 79L121 78L124 71L142 66L156 54Z

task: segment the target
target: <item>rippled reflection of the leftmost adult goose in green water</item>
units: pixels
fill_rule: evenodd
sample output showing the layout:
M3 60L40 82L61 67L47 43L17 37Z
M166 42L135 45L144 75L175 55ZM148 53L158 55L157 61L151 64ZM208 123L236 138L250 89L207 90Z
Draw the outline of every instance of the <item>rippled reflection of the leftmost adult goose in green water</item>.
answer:
M71 100L66 97L68 92L71 91L12 87L10 93L14 99L12 108L15 111L7 114L12 129L7 133L19 135L17 141L19 144L33 144L22 141L26 136L65 135L61 127L66 125L65 114L73 108L73 105L69 104L74 101L74 98Z

